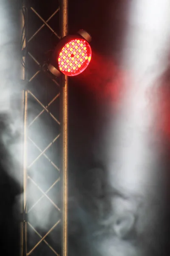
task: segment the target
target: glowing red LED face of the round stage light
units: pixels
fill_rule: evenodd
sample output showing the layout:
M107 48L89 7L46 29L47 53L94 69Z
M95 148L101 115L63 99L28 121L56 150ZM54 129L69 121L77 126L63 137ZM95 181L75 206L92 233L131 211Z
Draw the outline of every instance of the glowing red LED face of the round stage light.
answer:
M57 57L59 70L66 76L82 73L91 61L91 47L83 39L68 41Z

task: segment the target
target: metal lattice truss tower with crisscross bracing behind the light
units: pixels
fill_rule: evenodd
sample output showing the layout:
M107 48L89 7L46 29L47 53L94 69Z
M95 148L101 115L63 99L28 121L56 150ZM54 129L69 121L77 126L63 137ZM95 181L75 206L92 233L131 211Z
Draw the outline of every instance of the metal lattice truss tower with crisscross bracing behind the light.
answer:
M45 72L68 0L22 0L22 253L67 256L68 78Z

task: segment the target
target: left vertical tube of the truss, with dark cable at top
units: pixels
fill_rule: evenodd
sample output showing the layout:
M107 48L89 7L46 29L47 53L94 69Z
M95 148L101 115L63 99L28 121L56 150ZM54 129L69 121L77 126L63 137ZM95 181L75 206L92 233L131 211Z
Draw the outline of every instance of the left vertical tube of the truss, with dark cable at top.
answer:
M21 50L26 48L26 17L25 16L26 6L24 0L22 1L21 9ZM26 57L23 57L21 65L21 80L26 80ZM27 91L23 90L23 131L22 131L22 145L23 145L23 159L22 159L22 170L21 170L21 188L22 188L22 256L26 256L26 180L27 180L27 169L26 169L26 123L27 123Z

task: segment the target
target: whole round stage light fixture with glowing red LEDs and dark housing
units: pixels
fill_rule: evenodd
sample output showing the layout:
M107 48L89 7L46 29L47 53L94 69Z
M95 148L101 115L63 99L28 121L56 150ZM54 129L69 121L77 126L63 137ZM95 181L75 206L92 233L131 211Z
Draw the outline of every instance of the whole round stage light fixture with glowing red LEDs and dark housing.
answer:
M77 76L82 73L91 61L90 41L91 36L84 30L63 38L54 50L48 70L55 76L61 73Z

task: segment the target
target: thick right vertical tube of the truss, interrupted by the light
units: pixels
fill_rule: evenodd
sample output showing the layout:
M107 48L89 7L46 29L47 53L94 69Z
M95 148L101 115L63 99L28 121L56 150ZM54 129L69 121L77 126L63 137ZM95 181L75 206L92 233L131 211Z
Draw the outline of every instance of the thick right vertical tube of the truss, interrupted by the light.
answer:
M61 0L61 37L68 34L68 0ZM68 76L62 76L62 256L68 254Z

